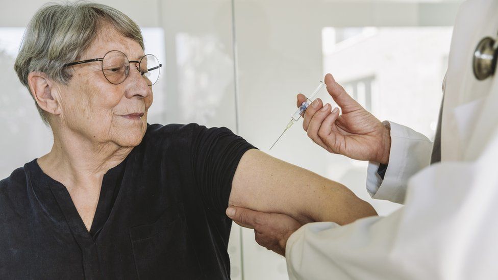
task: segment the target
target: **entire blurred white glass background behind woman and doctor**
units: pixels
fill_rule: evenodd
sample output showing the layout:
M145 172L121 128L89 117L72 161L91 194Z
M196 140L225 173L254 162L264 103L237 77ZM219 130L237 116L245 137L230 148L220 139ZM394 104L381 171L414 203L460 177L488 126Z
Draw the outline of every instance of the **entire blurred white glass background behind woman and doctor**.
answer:
M13 70L24 28L46 1L0 9L0 178L51 148L52 135ZM298 122L268 151L325 73L380 120L434 138L452 26L460 0L98 0L142 28L145 53L165 65L149 123L226 126L268 154L351 188L380 215L366 162L328 154ZM333 103L323 90L319 96ZM283 257L234 224L232 279L288 279Z

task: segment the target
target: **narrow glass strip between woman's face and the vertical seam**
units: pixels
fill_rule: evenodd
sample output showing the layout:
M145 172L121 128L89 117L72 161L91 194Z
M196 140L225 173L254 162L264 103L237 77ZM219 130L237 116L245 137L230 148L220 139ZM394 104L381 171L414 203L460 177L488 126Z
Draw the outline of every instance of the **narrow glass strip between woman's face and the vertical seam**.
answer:
M158 3L165 31L166 122L226 126L236 133L232 1ZM240 244L240 227L233 223L228 252L234 280L242 279Z

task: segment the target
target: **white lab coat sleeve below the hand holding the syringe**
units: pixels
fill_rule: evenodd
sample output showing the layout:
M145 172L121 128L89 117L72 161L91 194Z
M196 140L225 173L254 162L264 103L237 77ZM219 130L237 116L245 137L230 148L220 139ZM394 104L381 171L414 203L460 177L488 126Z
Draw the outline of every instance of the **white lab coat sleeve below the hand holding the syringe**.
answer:
M432 142L407 126L386 122L391 127L389 164L382 180L379 163L368 163L366 189L372 198L403 204L408 179L430 164Z

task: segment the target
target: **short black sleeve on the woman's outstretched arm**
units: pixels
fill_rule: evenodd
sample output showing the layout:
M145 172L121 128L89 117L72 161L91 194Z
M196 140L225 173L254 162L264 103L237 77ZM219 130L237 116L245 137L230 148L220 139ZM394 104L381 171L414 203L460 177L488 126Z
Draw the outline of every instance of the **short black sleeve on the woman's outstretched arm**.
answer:
M206 208L225 215L235 170L244 153L253 148L227 128L196 127L191 161Z

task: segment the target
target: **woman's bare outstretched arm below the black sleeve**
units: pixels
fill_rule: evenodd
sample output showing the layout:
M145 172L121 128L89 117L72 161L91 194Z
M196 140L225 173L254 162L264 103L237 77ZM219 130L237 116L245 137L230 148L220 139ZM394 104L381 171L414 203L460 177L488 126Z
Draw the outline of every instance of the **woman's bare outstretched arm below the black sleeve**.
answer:
M333 221L342 225L377 215L345 186L257 149L242 156L229 205L286 214L301 223Z

